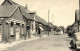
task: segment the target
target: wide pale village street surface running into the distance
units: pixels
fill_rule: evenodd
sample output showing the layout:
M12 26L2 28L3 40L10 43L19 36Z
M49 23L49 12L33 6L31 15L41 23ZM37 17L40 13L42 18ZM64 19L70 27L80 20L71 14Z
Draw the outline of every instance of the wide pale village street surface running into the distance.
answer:
M67 34L50 35L37 40L20 43L4 51L72 51Z

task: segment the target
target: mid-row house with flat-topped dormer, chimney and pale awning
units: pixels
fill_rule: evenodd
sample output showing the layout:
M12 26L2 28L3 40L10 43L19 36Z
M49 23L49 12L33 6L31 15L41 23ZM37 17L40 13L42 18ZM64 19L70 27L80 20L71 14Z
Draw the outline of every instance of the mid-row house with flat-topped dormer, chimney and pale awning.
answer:
M42 19L40 16L36 15L36 12L34 11L30 11L27 8L26 5L26 12L28 12L28 14L30 15L31 18L28 18L28 21L30 22L30 34L33 34L34 36L39 36L39 34L44 34L43 32L44 27L47 26L47 22ZM31 35L31 36L33 36Z

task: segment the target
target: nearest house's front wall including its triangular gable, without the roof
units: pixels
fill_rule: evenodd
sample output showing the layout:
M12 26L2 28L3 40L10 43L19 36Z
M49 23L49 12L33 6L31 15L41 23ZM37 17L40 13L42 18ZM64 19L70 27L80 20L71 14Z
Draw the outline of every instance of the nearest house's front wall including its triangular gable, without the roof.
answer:
M1 20L0 20L1 21ZM12 42L13 40L20 40L24 34L24 39L26 39L26 24L22 18L19 8L12 14L11 17L6 18L2 23L2 42ZM11 23L13 26L11 27ZM17 25L17 23L19 25ZM22 34L22 24L23 34Z

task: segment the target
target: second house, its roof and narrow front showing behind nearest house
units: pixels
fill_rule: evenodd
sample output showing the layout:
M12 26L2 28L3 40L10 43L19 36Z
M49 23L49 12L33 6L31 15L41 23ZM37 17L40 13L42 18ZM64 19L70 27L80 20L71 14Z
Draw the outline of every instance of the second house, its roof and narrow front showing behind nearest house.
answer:
M29 24L29 21L31 21L31 20L33 20L33 17L31 17L29 14L28 14L28 12L26 12L26 9L25 9L25 7L23 7L23 6L21 6L20 4L18 4L18 3L16 3L16 2L14 2L14 1L12 1L12 0L5 0L3 3L2 3L2 5L1 6L3 6L3 5L18 5L19 6L19 8L20 8L20 11L21 11L21 13L22 13L22 16L23 16L23 19L24 19L24 21L25 21L25 30L26 30L26 32L25 32L25 34L26 34L26 36L25 36L25 39L26 38L30 38L31 37L31 32L30 32L30 30L31 30L31 28L29 27L30 26L30 24ZM27 24L28 23L28 24Z

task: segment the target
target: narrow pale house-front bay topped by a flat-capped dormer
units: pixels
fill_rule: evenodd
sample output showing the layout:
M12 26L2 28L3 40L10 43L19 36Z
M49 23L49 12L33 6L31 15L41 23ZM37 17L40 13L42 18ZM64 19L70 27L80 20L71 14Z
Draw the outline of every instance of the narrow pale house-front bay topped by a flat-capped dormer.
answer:
M35 11L29 11L28 14L32 19L28 19L29 26L30 26L30 35L31 37L35 37L36 35L36 22L35 22Z

